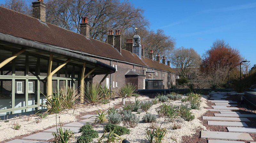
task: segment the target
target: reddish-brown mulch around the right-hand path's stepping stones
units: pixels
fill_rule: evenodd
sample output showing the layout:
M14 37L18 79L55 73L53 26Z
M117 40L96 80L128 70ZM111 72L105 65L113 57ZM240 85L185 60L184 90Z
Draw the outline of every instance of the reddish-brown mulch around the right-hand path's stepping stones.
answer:
M239 95L230 95L230 97L227 98L227 100L232 100L237 102L237 107L241 114L255 114L256 108L255 106L251 105L250 103L244 101L244 104L241 104L241 96ZM207 101L207 105L209 108L212 108L211 105L214 105L211 102ZM214 113L220 113L216 111L207 111L204 113L203 116L214 116ZM202 124L209 130L209 131L218 131L218 132L228 132L227 127L224 126L212 126L207 125L207 120L203 120L202 117L198 118ZM256 127L256 118L248 118L251 122L246 122L248 127ZM196 130L196 133L193 136L183 136L182 137L182 143L208 143L208 139L202 139L201 138L201 130ZM256 133L249 133L253 140L256 140ZM244 141L245 143L250 143L250 141L245 140L237 140L237 141Z

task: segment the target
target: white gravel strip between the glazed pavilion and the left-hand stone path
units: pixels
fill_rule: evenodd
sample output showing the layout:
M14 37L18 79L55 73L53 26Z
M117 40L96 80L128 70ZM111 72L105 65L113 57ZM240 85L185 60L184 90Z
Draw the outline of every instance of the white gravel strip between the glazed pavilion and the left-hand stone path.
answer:
M139 97L140 100L147 100L148 97ZM118 104L120 101L122 101L122 98L118 98L115 101L110 101L110 103L105 105L97 105L97 106L85 106L62 111L60 114L57 114L57 123L59 124L59 116L60 116L60 122L61 123L69 123L77 121L76 116L83 112L89 112L89 111L95 111L95 110L106 110L109 107L113 107L115 104ZM126 99L126 101L135 101L135 97L131 97L129 99ZM74 114L73 114L74 112ZM38 130L43 130L47 127L56 125L56 114L52 114L47 116L47 118L42 119L42 122L36 123L37 116L30 117L30 120L28 121L28 118L25 118L28 116L21 116L17 118L9 119L10 121L5 123L4 121L0 122L0 141L3 141L5 139L12 139L15 136L20 136L28 133L32 133ZM12 123L17 122L21 125L20 130L14 130L12 127Z

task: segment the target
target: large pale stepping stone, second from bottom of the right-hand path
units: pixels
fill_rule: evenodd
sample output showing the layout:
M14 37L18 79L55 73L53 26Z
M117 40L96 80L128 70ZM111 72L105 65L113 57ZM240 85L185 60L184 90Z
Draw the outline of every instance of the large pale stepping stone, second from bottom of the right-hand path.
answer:
M226 140L253 140L249 133L201 131L201 138Z

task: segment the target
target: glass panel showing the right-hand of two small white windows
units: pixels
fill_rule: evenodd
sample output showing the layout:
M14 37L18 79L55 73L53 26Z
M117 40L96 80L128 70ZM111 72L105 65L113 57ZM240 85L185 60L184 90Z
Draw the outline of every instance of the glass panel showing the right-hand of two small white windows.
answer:
M28 80L28 105L37 104L37 80Z

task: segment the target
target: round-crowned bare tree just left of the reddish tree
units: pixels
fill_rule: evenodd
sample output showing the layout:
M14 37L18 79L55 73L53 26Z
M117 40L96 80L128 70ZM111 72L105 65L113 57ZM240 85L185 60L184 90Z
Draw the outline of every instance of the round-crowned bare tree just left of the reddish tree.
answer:
M176 67L179 74L185 78L191 68L197 68L200 65L200 55L193 48L184 48L183 46L174 50L170 55L171 63Z

